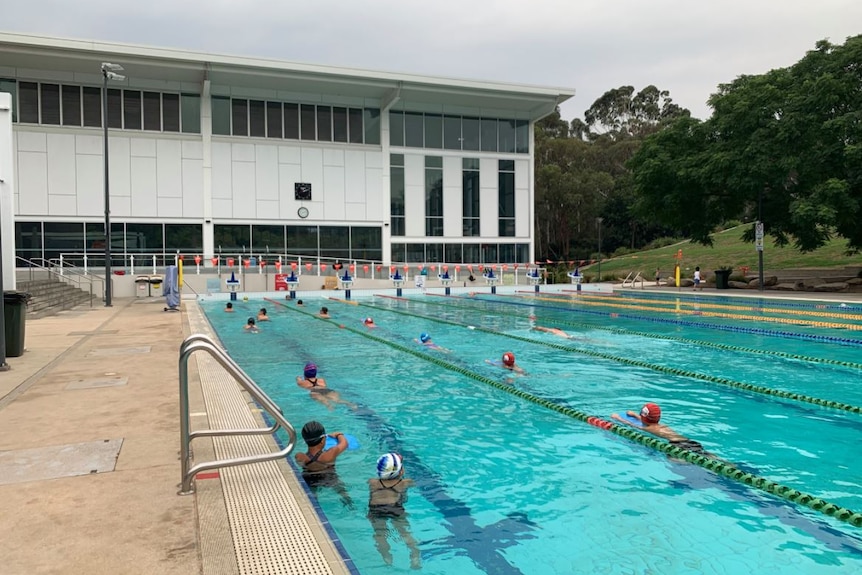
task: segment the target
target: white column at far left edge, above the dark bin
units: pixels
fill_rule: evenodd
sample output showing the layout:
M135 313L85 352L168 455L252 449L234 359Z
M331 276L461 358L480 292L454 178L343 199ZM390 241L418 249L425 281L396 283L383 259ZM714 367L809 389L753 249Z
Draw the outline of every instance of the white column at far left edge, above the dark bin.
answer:
M12 94L0 92L0 233L3 234L3 289L15 284L15 159L12 155Z

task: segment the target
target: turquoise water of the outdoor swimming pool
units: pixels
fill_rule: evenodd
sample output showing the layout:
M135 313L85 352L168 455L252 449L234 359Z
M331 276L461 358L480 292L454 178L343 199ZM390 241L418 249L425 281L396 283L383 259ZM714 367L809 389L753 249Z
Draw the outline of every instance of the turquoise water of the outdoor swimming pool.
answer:
M239 314L221 313L220 302L204 307L225 347L290 421L301 427L318 419L361 442L338 462L352 508L332 490L318 492L359 573L410 572L397 534L393 565L383 563L365 518L367 479L387 451L404 455L416 481L406 507L422 551L421 573L837 574L862 568L859 528L669 460L462 373L504 381L509 372L486 360L512 351L527 371L511 381L516 389L602 418L654 401L663 423L723 459L862 509L862 415L661 371L673 366L862 405L859 367L810 361L852 364L862 357L855 344L767 333L849 340L862 339L860 332L692 315L667 299L656 305L670 303L669 310L621 307L654 305L642 299L378 297L356 306L307 301L304 310L251 301L237 303ZM244 333L245 317L261 305L272 321L259 334ZM320 305L333 320L313 317ZM793 311L764 316L795 321ZM378 328L362 326L369 315ZM575 339L531 331L536 324L565 329ZM723 330L734 325L766 331ZM423 331L451 352L416 344ZM356 407L328 410L309 399L295 385L306 361L315 361L329 386Z

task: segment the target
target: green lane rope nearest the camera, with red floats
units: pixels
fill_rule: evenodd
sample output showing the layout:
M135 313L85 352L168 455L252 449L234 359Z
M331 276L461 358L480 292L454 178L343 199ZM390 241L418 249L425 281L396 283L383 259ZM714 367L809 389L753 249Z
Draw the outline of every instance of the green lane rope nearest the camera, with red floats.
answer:
M274 300L269 300L269 301L273 301L274 303L280 303L280 302L275 302ZM281 305L283 305L283 304L281 304ZM358 305L364 305L364 306L372 307L372 308L375 307L375 306L371 306L368 304L362 304L362 303L360 303ZM288 306L284 306L284 307L288 307ZM289 308L288 307L288 309L292 309L295 311L301 311L302 313L305 313L306 315L313 315L311 313L299 310L298 308ZM379 310L380 308L376 308L376 309ZM396 311L396 313L401 314L402 312ZM404 314L404 315L415 315L415 314ZM418 316L418 317L422 317L422 316ZM617 425L615 423L612 423L610 421L606 421L606 420L601 419L599 417L591 416L587 413L584 413L583 411L574 409L572 407L560 405L559 403L555 403L555 402L550 401L548 399L538 397L536 395L533 395L532 393L528 393L526 391L520 390L516 387L513 387L512 385L501 383L499 381L491 379L490 377L486 377L484 375L478 374L474 371L471 371L471 370L466 369L464 367L461 367L459 365L445 361L439 357L432 357L432 356L430 356L426 353L423 353L421 351L418 351L416 349L406 347L406 346L403 346L401 344L389 341L385 338L376 336L372 333L369 333L368 330L359 330L359 329L356 329L353 327L348 327L348 326L345 326L343 324L339 324L339 323L332 321L332 320L327 320L327 321L329 321L332 325L337 326L338 329L346 330L346 331L349 331L349 332L354 333L356 335L360 335L364 338L370 339L370 340L375 341L377 343L389 346L389 347L396 349L398 351L401 351L401 352L410 354L414 357L423 359L429 363L433 363L433 364L437 365L438 367L442 367L442 368L447 369L449 371L454 371L456 373L459 373L461 375L469 377L475 381L485 383L487 385L495 387L496 389L499 389L501 391L509 393L510 395L520 397L521 399L525 399L525 400L530 401L530 402L532 402L536 405L539 405L541 407L550 409L550 410L555 411L557 413L560 413L562 415L565 415L565 416L571 417L573 419L582 421L584 423L593 425L594 427L599 427L600 429L605 429L607 431L610 431L611 433L615 433L616 435L619 435L620 437L624 437L626 439L629 439L630 441L634 441L634 442L639 443L641 445L644 445L646 447L650 447L652 449L655 449L657 451L665 453L666 455L668 455L670 457L673 457L676 459L683 459L689 463L703 467L704 469L712 471L713 473L716 473L718 475L722 475L724 477L733 479L735 481L739 481L740 483L748 485L749 487L753 487L753 488L758 489L760 491L764 491L766 493L776 495L778 497L786 499L786 500L788 500L792 503L795 503L797 505L803 505L805 507L813 509L814 511L817 511L817 512L822 513L824 515L827 515L829 517L833 517L835 519L838 519L839 521L849 523L850 525L853 525L855 527L862 527L862 513L857 513L855 511L852 511L852 510L847 509L845 507L841 507L840 505L836 505L834 503L831 503L831 502L826 501L824 499L821 499L819 497L815 497L813 495L799 491L797 489L793 489L793 488L788 487L786 485L782 485L782 484L777 483L775 481L772 481L770 479L766 479L765 477L760 477L758 475L754 475L753 473L748 473L746 471L742 471L741 469L739 469L738 467L734 466L731 463L727 463L725 461L721 461L721 460L715 459L713 457L707 457L705 455L700 455L700 454L694 453L694 452L689 451L687 449L683 449L682 447L672 445L666 441L662 441L661 439L659 439L657 437L653 437L650 435L646 435L644 433L640 433L640 432L638 432L632 428ZM451 323L453 325L460 325L460 324L456 324L454 322L448 322L446 320L440 320L440 321L443 323ZM491 331L491 330L486 330L486 331ZM534 340L529 340L529 341L534 341Z

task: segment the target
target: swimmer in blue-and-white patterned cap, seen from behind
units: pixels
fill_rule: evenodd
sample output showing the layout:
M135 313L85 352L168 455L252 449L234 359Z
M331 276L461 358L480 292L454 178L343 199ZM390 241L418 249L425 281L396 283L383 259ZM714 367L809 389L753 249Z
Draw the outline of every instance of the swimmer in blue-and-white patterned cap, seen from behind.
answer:
M422 567L419 545L407 522L407 488L412 479L404 477L404 461L397 453L387 453L377 460L377 476L368 480L368 520L374 528L374 544L383 562L392 565L389 524L401 535L410 550L410 567Z

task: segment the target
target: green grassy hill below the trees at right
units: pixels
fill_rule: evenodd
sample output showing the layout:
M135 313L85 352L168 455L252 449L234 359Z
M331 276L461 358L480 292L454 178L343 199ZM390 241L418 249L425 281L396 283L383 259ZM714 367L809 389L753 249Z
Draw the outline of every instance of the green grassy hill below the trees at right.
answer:
M757 251L754 244L743 242L742 233L746 226L737 226L722 232L712 234L713 246L707 247L691 242L680 242L655 250L638 252L604 260L602 262L602 278L625 278L630 272L641 272L646 279L652 279L656 268L662 276L673 272L676 264L677 250L682 250L682 275L691 277L695 266L712 275L712 270L720 267L730 267L734 275L742 273L742 267L748 266L748 273L757 272ZM779 248L767 237L763 248L763 268L766 272L786 269L829 269L847 266L862 267L862 253L846 255L846 241L835 239L819 250L802 253L793 247ZM582 268L586 275L595 275L598 264Z

